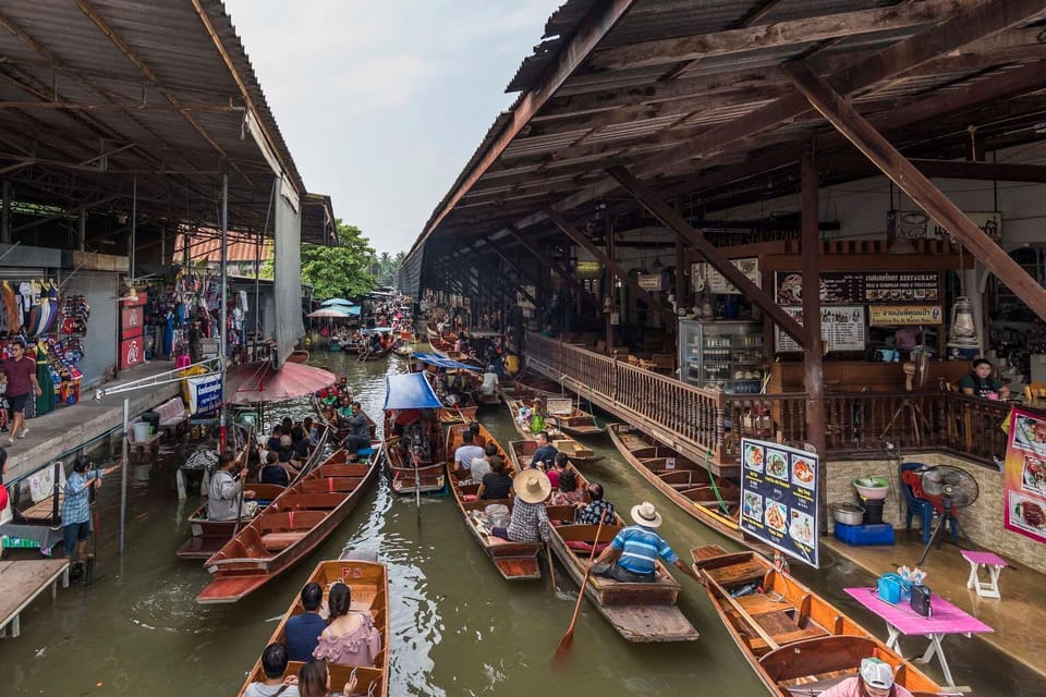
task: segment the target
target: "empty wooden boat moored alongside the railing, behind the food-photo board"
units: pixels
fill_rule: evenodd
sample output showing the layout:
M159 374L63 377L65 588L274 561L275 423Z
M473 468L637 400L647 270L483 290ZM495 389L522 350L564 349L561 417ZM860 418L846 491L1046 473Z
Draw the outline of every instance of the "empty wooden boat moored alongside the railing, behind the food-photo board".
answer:
M741 531L741 490L738 485L723 477L710 476L704 465L642 431L632 430L628 424L611 424L607 430L625 462L672 503L717 533L764 554L773 554L769 545ZM720 498L726 511L719 504Z

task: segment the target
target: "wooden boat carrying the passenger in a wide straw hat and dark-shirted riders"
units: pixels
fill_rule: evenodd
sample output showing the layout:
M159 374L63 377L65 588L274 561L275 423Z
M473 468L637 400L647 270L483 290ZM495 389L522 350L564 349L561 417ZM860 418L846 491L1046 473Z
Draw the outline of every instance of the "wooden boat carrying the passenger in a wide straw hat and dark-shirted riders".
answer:
M453 457L450 453L453 453L462 444L461 435L467 430L469 426L466 424L451 426L447 429L447 453L449 457ZM516 468L508 466L509 460L504 450L501 449L501 444L494 438L494 436L488 431L482 424L479 425L479 435L476 438L475 444L479 447L485 447L489 443L494 443L498 447L498 454L506 458L507 474L514 476L518 472ZM540 578L542 570L537 563L537 553L544 547L540 542L510 542L503 540L499 537L488 535L484 529L478 526L478 521L473 517L473 513L478 513L483 511L490 504L501 503L512 510L513 499L486 499L477 500L476 491L479 489L479 484L469 482L461 484L458 481L458 478L451 475L450 480L450 490L454 494L454 501L458 503L458 511L461 513L462 518L465 522L465 526L469 528L469 531L472 533L472 536L479 543L479 547L483 548L483 551L487 553L487 557L490 558L490 561L494 562L495 567L501 574L501 577L506 580L528 580L532 578Z

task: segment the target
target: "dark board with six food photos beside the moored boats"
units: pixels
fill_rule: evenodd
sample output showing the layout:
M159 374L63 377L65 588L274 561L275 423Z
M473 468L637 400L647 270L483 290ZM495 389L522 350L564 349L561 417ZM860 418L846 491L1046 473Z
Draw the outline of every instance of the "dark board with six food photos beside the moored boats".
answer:
M818 568L817 455L742 438L741 456L741 529Z

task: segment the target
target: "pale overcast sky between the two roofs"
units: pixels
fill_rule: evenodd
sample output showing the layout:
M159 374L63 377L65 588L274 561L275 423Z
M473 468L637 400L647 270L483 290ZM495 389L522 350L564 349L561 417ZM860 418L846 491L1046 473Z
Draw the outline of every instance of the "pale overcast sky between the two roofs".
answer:
M308 191L410 248L561 0L226 0Z

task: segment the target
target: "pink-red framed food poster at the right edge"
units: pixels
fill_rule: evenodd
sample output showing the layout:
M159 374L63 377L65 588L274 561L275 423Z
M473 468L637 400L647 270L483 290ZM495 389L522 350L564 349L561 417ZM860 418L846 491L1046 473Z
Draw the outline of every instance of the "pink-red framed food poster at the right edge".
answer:
M1013 407L1006 448L1004 525L1046 542L1046 418Z

